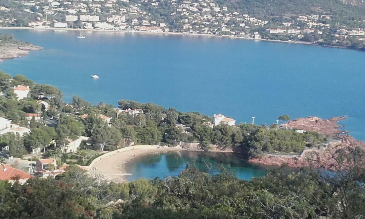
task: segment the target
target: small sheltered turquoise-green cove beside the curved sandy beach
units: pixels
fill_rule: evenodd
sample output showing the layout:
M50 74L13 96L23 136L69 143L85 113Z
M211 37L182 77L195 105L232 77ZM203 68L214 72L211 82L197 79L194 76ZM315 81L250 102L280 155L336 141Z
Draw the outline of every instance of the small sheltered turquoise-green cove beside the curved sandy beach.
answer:
M126 177L128 181L134 181L139 178L178 176L188 163L194 163L197 168L213 174L218 173L219 168L223 167L244 180L264 176L268 168L247 164L245 159L235 154L196 151L162 152L137 157L128 162L126 170L132 176Z

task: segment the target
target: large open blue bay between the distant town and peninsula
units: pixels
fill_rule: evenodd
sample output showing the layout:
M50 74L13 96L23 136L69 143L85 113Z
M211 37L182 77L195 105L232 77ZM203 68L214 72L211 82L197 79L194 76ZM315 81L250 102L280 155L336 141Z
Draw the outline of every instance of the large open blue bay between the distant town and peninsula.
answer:
M0 64L93 103L153 102L180 111L222 113L238 122L347 115L365 140L365 53L239 39L110 32L1 30L44 47ZM90 75L98 74L93 80Z

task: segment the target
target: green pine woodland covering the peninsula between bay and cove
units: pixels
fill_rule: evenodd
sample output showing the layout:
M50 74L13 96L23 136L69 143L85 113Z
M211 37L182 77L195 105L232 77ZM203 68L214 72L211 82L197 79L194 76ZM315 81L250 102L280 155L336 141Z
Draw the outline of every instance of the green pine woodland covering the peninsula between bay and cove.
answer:
M0 116L31 128L31 132L23 137L11 133L0 136L0 145L9 145L11 155L16 157L38 148L44 157L58 157L59 161L70 164L86 164L90 157L80 153L72 159L62 155L69 139L75 140L81 135L92 139L91 145L83 144L82 149L115 150L130 142L168 146L176 146L180 142L199 142L204 150L217 145L222 149L241 151L248 156L262 152L301 153L306 147L318 147L326 141L323 135L316 132L302 134L278 128L276 124L213 127L209 116L198 112L178 112L174 108L166 109L153 103L120 100L119 107L114 108L101 102L92 105L74 96L71 103L65 104L62 92L51 85L34 84L21 75L11 78L3 72L0 72L0 78L0 88L4 93L0 96ZM12 87L19 84L30 86L30 97L19 101L16 99ZM49 109L45 110L38 100L49 103ZM131 115L119 112L128 109L143 110L143 113ZM41 114L43 120L32 118L28 121L26 113ZM110 123L107 124L100 115L108 116ZM280 119L287 122L290 117L284 115ZM51 142L56 142L56 146Z

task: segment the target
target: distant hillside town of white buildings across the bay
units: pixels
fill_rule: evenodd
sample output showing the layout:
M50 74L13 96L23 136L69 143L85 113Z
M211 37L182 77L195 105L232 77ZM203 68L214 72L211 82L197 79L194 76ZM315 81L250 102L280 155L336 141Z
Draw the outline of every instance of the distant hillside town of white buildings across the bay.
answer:
M1 26L85 28L307 42L364 50L362 1L0 1Z

